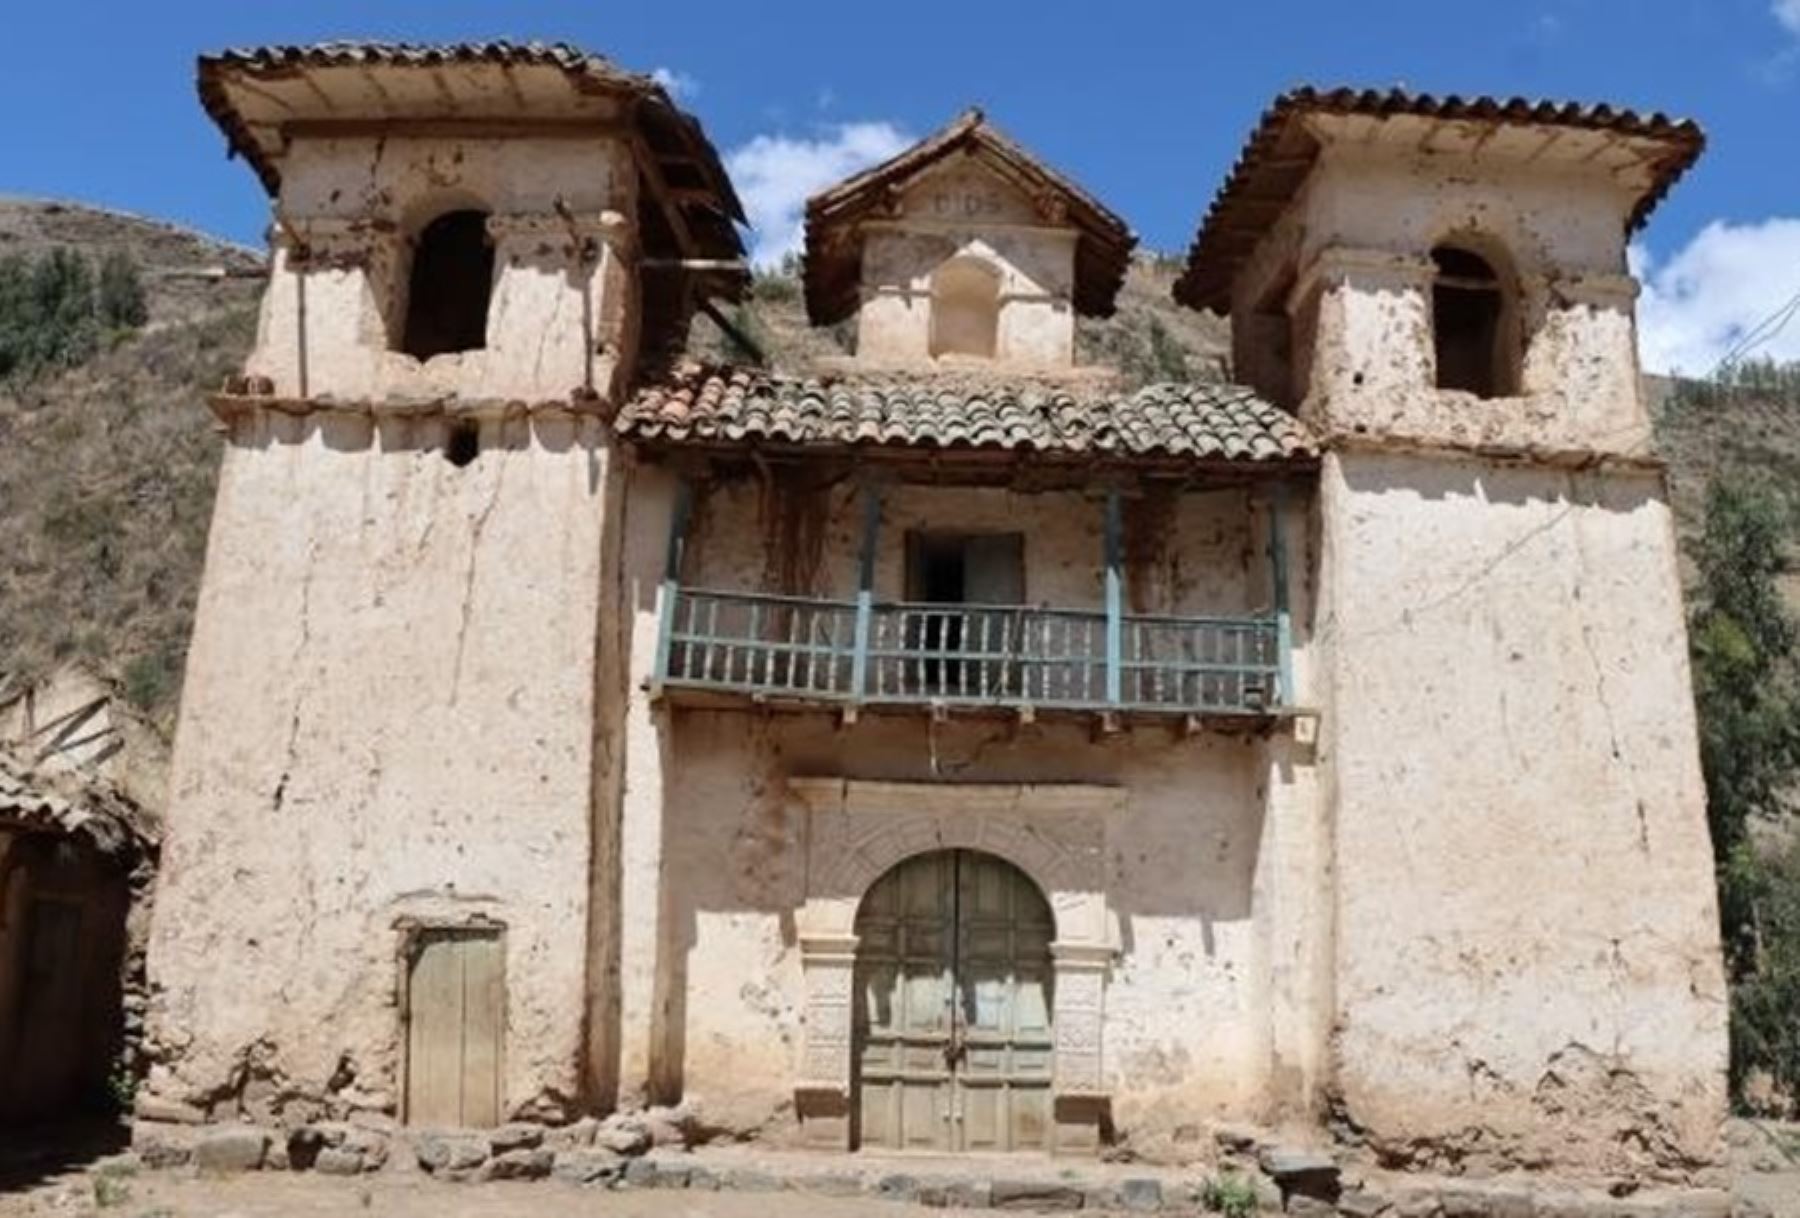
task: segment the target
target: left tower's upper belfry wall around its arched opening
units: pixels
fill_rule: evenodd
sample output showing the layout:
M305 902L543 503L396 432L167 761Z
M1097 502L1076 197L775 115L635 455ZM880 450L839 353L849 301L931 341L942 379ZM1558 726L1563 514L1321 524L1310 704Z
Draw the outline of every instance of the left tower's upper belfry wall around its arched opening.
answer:
M412 239L490 212L488 345L400 347ZM301 139L245 371L279 396L567 401L623 389L635 347L637 178L616 139Z

